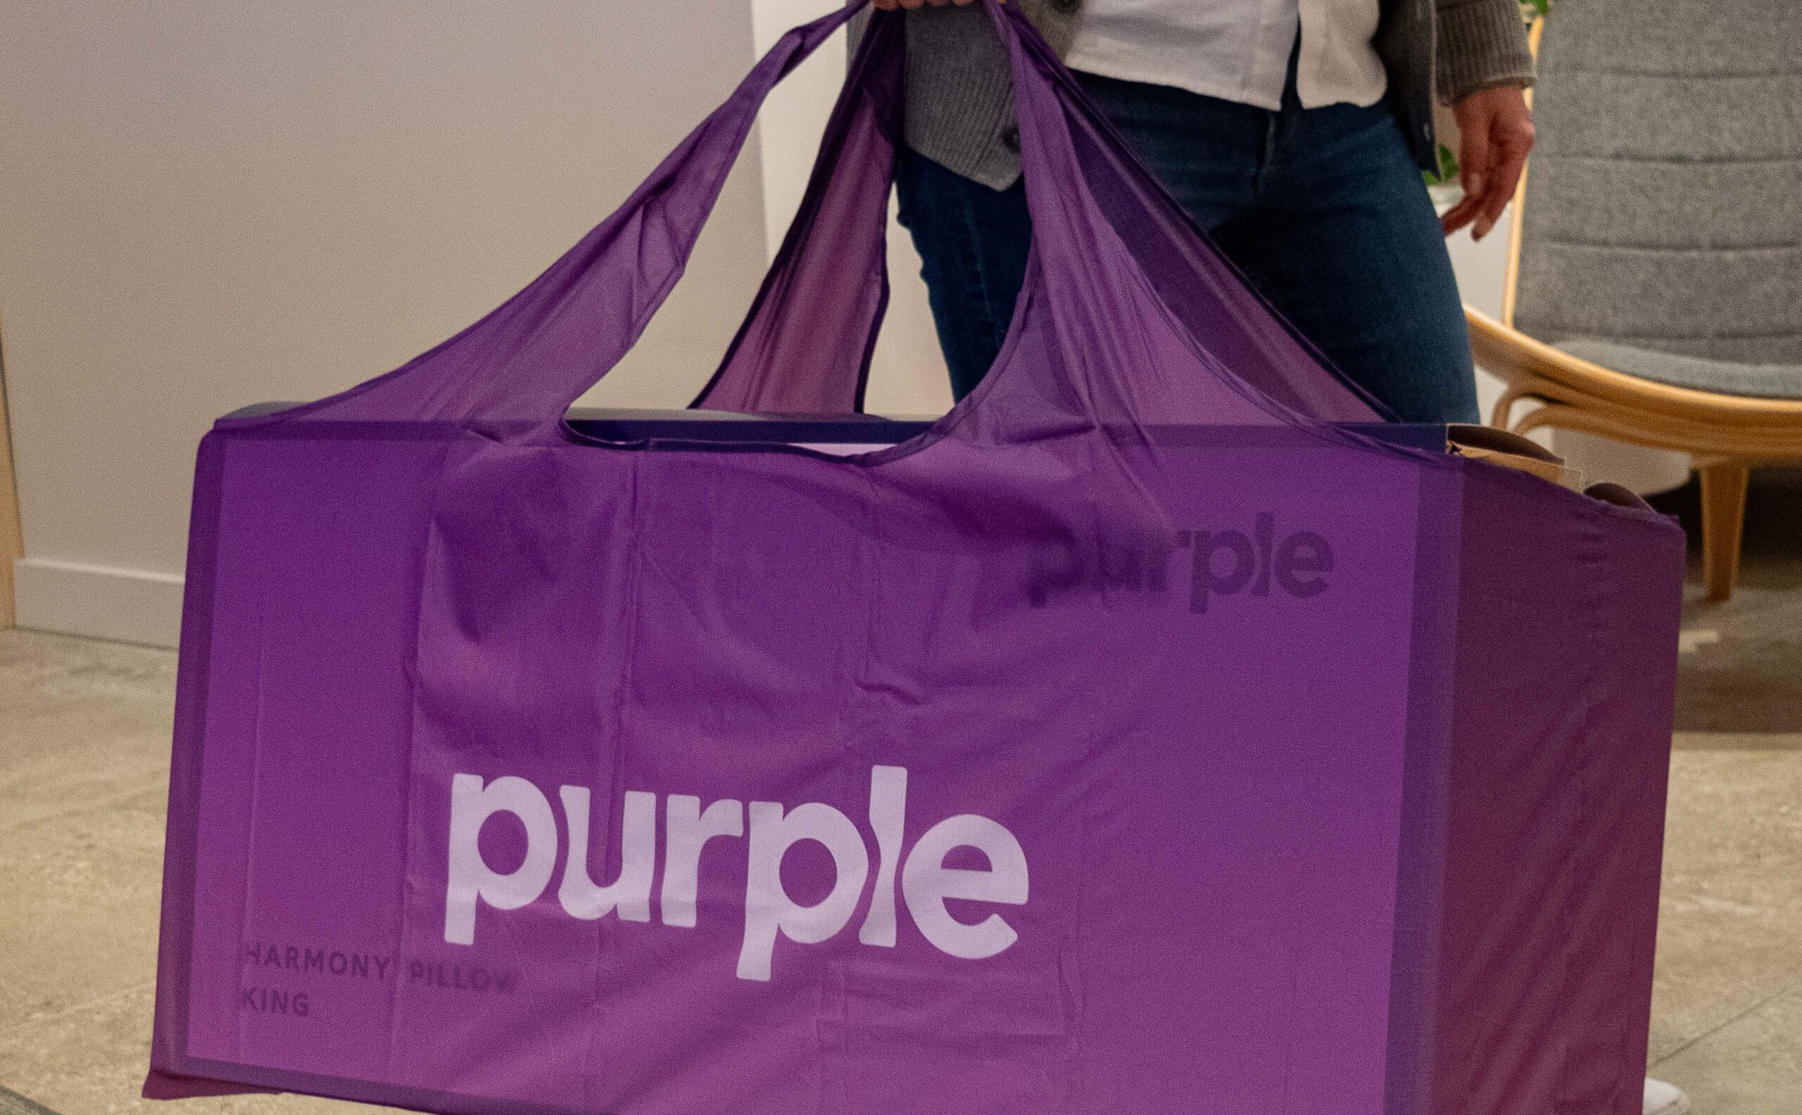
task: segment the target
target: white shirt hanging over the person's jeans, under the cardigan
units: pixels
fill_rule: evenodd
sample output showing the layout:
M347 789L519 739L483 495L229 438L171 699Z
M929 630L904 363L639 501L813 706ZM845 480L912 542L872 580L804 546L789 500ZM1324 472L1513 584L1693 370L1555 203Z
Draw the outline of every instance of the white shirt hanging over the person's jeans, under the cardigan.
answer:
M1299 32L1305 108L1375 104L1388 88L1370 41L1379 16L1379 0L1088 0L1067 61L1103 77L1281 108Z

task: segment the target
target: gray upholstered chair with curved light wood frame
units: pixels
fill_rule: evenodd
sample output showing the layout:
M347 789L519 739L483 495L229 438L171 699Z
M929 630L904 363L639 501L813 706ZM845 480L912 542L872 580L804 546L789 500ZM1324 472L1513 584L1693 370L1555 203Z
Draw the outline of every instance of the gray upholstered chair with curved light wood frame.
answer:
M1802 461L1802 0L1555 0L1534 41L1501 321L1467 312L1494 423L1694 454L1725 600L1746 468Z

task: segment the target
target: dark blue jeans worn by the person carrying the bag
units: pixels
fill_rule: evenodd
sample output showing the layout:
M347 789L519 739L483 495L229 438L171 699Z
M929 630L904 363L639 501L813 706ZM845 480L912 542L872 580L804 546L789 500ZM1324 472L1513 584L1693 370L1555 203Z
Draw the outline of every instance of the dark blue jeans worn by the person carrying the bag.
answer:
M1081 74L1151 173L1252 285L1402 422L1476 422L1470 337L1445 236L1382 104L1276 112ZM901 223L924 261L951 389L1000 353L1033 240L1025 189L906 151ZM1206 342L1206 339L1204 339Z

